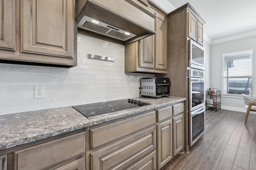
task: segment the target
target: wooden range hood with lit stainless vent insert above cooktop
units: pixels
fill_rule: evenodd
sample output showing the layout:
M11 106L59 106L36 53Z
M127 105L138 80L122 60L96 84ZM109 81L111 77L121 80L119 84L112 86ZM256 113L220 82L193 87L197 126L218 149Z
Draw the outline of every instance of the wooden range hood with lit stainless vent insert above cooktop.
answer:
M78 0L79 28L94 37L111 37L124 45L156 33L156 16L146 0Z

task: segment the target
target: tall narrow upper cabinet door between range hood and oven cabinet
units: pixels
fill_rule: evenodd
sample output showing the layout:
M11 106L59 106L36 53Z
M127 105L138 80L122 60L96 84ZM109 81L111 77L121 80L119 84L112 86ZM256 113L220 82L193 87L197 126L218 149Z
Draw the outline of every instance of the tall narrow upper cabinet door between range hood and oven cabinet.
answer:
M166 70L167 66L167 19L156 12L156 69Z

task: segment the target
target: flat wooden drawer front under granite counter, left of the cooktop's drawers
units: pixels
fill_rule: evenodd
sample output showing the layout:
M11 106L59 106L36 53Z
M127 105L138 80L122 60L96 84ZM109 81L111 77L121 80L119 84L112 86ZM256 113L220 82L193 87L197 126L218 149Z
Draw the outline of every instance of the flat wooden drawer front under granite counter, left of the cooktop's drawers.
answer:
M14 169L47 168L85 152L85 133L78 133L14 152Z

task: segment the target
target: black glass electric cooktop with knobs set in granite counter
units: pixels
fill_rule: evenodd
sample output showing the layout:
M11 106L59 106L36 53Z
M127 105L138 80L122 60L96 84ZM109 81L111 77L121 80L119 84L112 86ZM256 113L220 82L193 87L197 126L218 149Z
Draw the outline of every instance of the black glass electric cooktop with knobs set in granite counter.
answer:
M130 109L135 109L142 106L150 105L148 103L140 102L140 100L133 99L122 99L122 100L112 100L108 102L99 102L92 104L82 104L77 106L72 106L74 109L82 113L88 119L95 117L100 117L103 115L109 115L117 113L120 111L126 111Z

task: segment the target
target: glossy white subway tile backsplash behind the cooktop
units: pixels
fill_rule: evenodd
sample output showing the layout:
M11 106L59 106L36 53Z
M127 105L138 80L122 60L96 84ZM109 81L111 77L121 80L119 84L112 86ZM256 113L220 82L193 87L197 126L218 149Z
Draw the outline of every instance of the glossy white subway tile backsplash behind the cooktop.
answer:
M88 59L87 54L115 61ZM78 66L54 68L0 64L0 115L73 106L139 96L140 78L124 73L124 46L78 34ZM45 86L45 98L34 98L34 86Z

